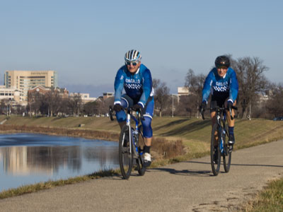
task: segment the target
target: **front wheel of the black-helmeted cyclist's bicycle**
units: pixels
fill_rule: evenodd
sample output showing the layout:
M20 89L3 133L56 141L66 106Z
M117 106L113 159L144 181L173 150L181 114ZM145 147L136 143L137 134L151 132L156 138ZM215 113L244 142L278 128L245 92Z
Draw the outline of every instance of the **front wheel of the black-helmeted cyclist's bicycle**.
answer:
M218 135L218 139L216 141L215 139L215 135ZM214 124L213 128L212 128L212 139L211 139L211 143L210 143L210 162L212 164L212 172L213 175L216 176L219 173L219 169L220 169L220 162L221 162L221 153L220 153L220 134L218 131L218 124ZM216 147L214 147L214 143L216 145Z

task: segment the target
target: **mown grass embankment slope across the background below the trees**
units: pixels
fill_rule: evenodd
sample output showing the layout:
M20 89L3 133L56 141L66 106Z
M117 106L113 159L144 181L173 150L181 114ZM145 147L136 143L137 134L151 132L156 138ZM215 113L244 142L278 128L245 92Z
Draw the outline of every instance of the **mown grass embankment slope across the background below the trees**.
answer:
M0 116L0 122L6 119ZM40 129L40 127L42 127ZM154 117L152 121L154 137L168 141L182 140L184 146L195 144L209 146L211 123L209 119L187 117ZM9 117L0 125L0 131L25 131L57 134L63 136L83 136L87 139L117 141L120 127L108 117ZM258 145L283 138L283 122L266 119L236 119L235 148ZM192 143L194 144L192 146ZM203 148L203 147L202 147ZM195 150L197 151L197 150Z

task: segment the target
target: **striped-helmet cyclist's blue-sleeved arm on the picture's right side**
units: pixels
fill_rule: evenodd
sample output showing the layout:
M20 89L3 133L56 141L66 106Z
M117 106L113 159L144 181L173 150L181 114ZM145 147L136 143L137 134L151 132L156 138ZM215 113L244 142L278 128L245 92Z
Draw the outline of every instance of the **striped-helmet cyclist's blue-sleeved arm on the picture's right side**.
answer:
M141 98L139 98L138 103L144 107L144 105L146 105L147 99L151 95L151 90L152 90L152 78L149 69L144 70L144 73L142 74L142 81L143 81L143 93L141 94Z

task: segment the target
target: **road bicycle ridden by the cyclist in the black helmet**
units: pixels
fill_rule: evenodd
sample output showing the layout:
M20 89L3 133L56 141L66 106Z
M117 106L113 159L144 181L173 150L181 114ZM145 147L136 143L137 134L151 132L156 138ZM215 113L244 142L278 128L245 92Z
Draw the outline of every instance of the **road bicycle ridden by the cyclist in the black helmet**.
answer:
M238 110L232 106L233 110ZM216 176L220 170L221 156L225 172L229 172L231 166L231 157L233 146L228 145L229 131L228 123L226 122L226 110L229 110L230 117L233 120L231 108L216 106L216 123L212 127L212 137L210 143L210 161L212 164L213 175ZM204 111L201 112L204 119ZM216 146L215 146L216 144Z

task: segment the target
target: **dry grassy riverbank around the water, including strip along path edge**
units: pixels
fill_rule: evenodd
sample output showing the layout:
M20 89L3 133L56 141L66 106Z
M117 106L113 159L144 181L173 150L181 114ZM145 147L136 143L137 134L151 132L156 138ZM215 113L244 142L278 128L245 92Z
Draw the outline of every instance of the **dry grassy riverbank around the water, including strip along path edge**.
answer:
M0 122L4 119L6 117L0 117ZM155 160L151 168L190 160L191 158L200 158L209 153L211 125L208 119L203 121L201 119L188 119L187 117L155 117L152 126ZM4 124L0 125L0 131L1 133L30 132L81 136L87 139L117 141L120 128L117 126L117 122L111 122L107 117L10 117ZM265 119L236 120L235 134L235 149L256 146L260 143L282 139L283 122ZM170 145L166 145L166 143ZM168 153L169 151L171 153ZM93 179L94 176L118 174L119 170L112 170L57 182L44 182L1 192L0 198L36 192L64 184L74 184Z

